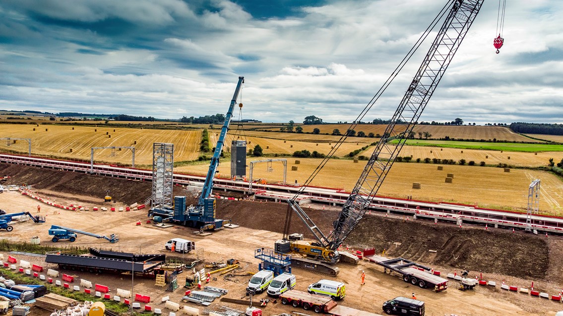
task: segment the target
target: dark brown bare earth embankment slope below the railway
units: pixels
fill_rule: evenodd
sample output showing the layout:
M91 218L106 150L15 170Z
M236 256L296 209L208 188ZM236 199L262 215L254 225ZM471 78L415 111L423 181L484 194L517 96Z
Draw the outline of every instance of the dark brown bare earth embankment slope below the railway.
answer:
M106 189L109 189L115 200L132 204L146 200L151 191L150 182L21 165L0 164L0 175L11 176L6 184L28 183L38 191L52 195L73 195L84 201L100 201ZM229 195L228 192L219 193ZM175 195L189 193L181 187L175 187ZM188 203L194 202L192 196ZM338 210L304 207L321 231L330 232ZM275 202L217 202L218 218L232 219L235 224L253 229L282 233L286 213L287 204ZM303 232L307 237L312 237L295 214L292 216L291 232ZM356 249L386 249L388 256L401 256L421 263L520 278L563 281L563 262L560 260L563 258L563 239L557 236L546 238L543 235L512 233L502 229L485 231L482 227L459 228L423 220L404 220L400 216L387 218L366 215L345 243Z

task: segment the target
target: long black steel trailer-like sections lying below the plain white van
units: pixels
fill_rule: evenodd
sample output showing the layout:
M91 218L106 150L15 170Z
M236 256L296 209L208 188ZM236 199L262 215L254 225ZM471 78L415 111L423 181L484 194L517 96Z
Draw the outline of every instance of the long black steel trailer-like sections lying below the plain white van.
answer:
M91 254L67 255L58 252L47 252L45 262L58 264L62 269L81 270L91 273L128 272L147 276L152 276L154 270L164 264L164 260L135 262L123 259L104 258Z

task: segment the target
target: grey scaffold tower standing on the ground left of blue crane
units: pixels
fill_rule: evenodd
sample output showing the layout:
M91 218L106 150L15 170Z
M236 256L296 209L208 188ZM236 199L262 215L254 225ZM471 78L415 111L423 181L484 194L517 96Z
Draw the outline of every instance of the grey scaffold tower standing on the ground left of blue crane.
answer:
M172 207L172 172L174 144L153 144L153 190L150 205L153 208Z

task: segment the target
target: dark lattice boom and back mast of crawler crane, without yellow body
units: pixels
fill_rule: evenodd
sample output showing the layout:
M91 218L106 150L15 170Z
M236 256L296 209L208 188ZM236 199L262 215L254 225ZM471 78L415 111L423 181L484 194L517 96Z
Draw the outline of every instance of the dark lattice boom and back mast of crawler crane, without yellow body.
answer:
M334 222L334 230L325 236L296 201L288 200L289 207L300 216L303 223L319 241L319 245L333 251L335 256L338 256L338 247L358 225L365 214L366 207L372 202L374 195L381 187L391 165L405 144L406 138L412 132L473 20L479 13L483 1L453 0L450 3L451 8L444 24L406 90L391 122L387 125L385 133L379 139L358 182L348 196L338 220ZM289 227L288 222L285 227Z

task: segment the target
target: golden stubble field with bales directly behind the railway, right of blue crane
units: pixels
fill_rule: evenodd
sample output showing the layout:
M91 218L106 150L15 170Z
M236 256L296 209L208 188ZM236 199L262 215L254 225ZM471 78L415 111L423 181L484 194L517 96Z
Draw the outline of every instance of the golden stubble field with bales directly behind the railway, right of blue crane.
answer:
M263 158L262 158L263 159ZM252 158L251 160L260 160ZM320 159L287 159L288 183L304 183L318 166ZM296 160L300 164L295 164ZM247 160L247 163L249 161ZM297 166L297 171L291 167ZM325 166L311 185L339 188L350 191L365 166L365 161L357 163L348 159L333 159ZM563 215L563 182L546 171L503 168L416 164L396 162L387 175L378 195L404 198L412 195L414 200L457 202L480 207L513 209L525 211L528 206L528 187L533 179L542 180L539 210L541 213ZM283 179L282 162L272 164L274 170L268 172L266 164L257 164L253 178L266 178L268 182ZM207 173L208 165L185 166L175 171L201 174ZM230 164L223 163L218 168L220 175L230 174ZM453 183L445 183L448 173L454 174ZM248 174L248 173L247 173ZM413 182L421 183L421 189L413 189Z

